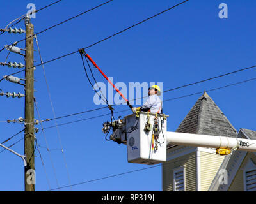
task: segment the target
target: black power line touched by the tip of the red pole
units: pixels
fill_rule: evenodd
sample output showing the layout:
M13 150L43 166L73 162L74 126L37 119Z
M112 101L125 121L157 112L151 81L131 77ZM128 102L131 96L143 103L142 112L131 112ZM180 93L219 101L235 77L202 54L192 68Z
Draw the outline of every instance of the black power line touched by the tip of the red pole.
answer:
M186 1L189 1L189 0L186 0ZM132 27L135 27L136 25L140 25L140 24L142 24L143 22L146 22L147 20L150 20L151 18L157 17L158 15L161 15L162 13L164 13L164 12L166 12L166 11L169 11L169 10L171 10L171 9L173 9L173 8L175 8L175 7L177 7L177 6L179 6L180 4L186 3L186 1L183 1L182 3L176 4L175 6L172 6L172 7L168 8L168 9L166 9L166 10L164 10L164 11L161 11L160 13L157 13L156 15L153 15L152 17L149 17L149 18L147 18L147 19L145 19L145 20L142 20L141 22L138 22L137 24L134 24L134 25L132 25L132 26L130 26L130 27L127 27L127 28L125 28L125 29L122 30L122 31L119 31L119 32L117 32L117 33L115 33L115 34L112 34L111 36L108 36L108 37L106 37L106 38L100 40L100 41L97 41L97 42L95 42L95 43L93 43L93 44L91 44L91 45L88 45L87 47L84 47L83 49L90 48L90 47L92 47L93 45L97 45L97 44L101 43L102 41L108 40L109 38L112 38L113 36L116 36L117 34L123 33L124 31L127 31L128 29L131 29ZM18 41L18 42L19 42L19 41ZM1 52L1 50L0 50L0 52ZM56 61L56 60L58 60L58 59L61 59L61 58L63 58L63 57L67 57L68 55L72 55L72 54L75 54L75 53L77 53L77 52L79 52L79 50L76 50L76 51L74 51L74 52L70 52L70 53L65 54L65 55L62 55L62 56L60 56L60 57L56 57L56 58L54 58L54 59L51 59L51 60L49 60L49 61L47 61L47 62L44 62L44 64L47 64L47 63L52 62L52 61ZM27 69L32 69L32 68L35 68L36 66L40 66L40 65L42 65L42 64L37 64L37 65L35 65L35 66L31 67L31 68L27 68ZM12 73L11 75L15 75L15 74L20 73L20 72L22 72L22 71L24 71L24 70L17 71L17 72L15 72L15 73ZM3 78L2 78L1 80L3 80ZM1 82L1 80L0 80L0 82Z

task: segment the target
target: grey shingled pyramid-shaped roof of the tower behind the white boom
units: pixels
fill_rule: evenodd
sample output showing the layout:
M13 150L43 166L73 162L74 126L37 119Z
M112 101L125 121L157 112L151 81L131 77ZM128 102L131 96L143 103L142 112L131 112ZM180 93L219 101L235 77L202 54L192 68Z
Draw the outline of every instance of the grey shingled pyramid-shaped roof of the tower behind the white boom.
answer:
M176 132L228 137L236 137L237 134L234 126L207 92L196 101Z

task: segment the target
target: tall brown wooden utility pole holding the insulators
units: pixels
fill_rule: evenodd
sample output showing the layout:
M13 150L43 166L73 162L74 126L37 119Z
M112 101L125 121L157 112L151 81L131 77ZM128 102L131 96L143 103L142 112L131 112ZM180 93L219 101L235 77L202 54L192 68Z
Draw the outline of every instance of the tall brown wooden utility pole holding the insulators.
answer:
M29 16L26 25L26 71L25 71L25 136L24 151L27 159L25 166L25 191L35 191L35 149L34 149L34 25Z

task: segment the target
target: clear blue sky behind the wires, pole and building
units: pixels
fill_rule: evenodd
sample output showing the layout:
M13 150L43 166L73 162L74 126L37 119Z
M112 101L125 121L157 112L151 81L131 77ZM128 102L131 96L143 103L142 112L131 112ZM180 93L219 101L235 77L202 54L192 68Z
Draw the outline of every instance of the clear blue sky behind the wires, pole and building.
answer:
M39 9L52 2L4 1L1 3L4 8L0 13L1 27L4 28L9 22L26 13L28 3L34 3L36 9ZM31 22L37 33L101 3L104 1L63 0L36 13L36 18ZM65 24L38 34L42 59L44 62L49 61L91 45L177 3L180 1L114 0ZM228 6L227 19L218 17L220 3L226 3ZM190 0L129 31L90 47L86 52L95 59L108 77L114 78L115 83L124 82L128 86L129 82L163 82L163 90L172 89L256 65L255 6L256 2L253 0ZM24 29L24 21L17 24L17 27ZM0 46L3 47L23 38L24 34L4 33L0 36ZM24 41L17 46L24 48ZM35 50L38 50L36 44ZM0 53L1 62L5 61L7 54L6 50ZM13 53L8 57L8 61L24 63L20 55ZM40 64L38 52L35 52L35 61L35 64ZM44 68L56 117L102 107L93 103L95 92L86 79L79 53L49 62ZM15 71L17 69L1 66L1 76ZM99 82L106 83L99 73L96 71L94 73ZM15 76L24 78L24 73ZM214 89L253 77L256 77L255 68L166 92L163 99ZM53 118L41 66L35 69L35 80L35 98L38 102L40 117L41 119ZM24 93L22 86L5 80L0 82L0 88L4 92ZM237 130L239 128L256 130L255 88L256 82L253 80L209 92L209 96ZM168 131L175 131L199 97L200 94L164 103L164 113L170 115ZM13 99L4 96L0 99L1 121L24 117L24 98ZM115 107L116 112L125 109L127 109L125 105ZM109 113L108 109L97 110L59 119L57 122L63 124L106 113ZM116 117L129 113L117 113ZM35 119L38 119L36 111ZM128 163L126 146L104 139L102 123L106 120L109 120L109 117L98 117L59 126L60 135L56 128L45 129L45 136L41 132L36 134L45 166L44 169L36 149L36 191L47 191L149 167ZM44 122L43 126L46 128L54 124L52 120ZM22 128L22 124L0 123L1 142ZM23 136L21 133L5 145L12 145ZM47 147L45 138L50 151L45 148ZM12 149L23 154L24 140L14 145ZM24 191L22 160L5 150L0 153L0 161L2 175L0 191ZM161 191L161 184L161 166L156 166L72 186L72 189L61 188L60 191Z

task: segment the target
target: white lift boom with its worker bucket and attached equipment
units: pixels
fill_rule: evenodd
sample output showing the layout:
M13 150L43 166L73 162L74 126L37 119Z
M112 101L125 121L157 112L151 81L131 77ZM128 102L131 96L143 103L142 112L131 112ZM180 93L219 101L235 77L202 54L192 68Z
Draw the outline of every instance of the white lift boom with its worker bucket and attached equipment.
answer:
M166 161L168 144L228 149L227 152L256 152L256 140L168 132L167 118L166 115L147 112L141 112L138 118L133 114L127 115L122 120L104 123L103 132L108 133L112 128L111 140L127 145L127 159L130 163L163 163Z

